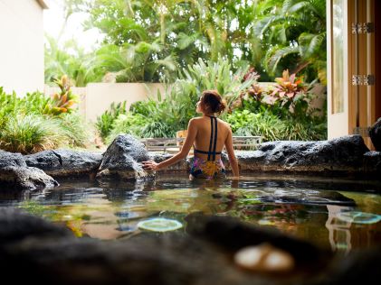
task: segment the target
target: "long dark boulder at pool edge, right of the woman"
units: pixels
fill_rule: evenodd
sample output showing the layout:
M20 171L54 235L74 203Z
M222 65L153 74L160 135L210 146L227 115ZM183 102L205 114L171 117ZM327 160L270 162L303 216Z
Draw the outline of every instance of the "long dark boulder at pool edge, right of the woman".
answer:
M258 151L239 156L242 170L356 172L367 146L360 135L318 142L264 142Z

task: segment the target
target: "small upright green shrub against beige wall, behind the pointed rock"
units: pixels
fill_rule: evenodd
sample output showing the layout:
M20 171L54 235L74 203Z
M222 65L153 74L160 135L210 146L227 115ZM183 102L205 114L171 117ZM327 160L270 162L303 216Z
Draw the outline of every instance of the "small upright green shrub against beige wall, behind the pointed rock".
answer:
M113 124L119 115L126 115L126 101L119 102L117 105L111 103L110 110L106 110L102 115L97 117L97 123L95 124L100 137L105 140L113 129Z

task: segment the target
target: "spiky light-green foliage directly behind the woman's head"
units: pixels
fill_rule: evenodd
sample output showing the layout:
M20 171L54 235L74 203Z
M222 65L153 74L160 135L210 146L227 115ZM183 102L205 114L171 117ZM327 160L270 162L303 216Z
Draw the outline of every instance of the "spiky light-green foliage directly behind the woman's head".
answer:
M165 90L165 96L157 93L157 98L134 103L129 115L119 116L115 121L108 141L119 133L133 133L138 137L174 137L176 131L184 130L189 120L196 115L195 104L206 89L217 89L233 107L233 101L251 86L254 78L242 82L246 69L231 73L228 60L219 59L206 63L199 60L179 75L180 78ZM135 126L134 124L137 124Z

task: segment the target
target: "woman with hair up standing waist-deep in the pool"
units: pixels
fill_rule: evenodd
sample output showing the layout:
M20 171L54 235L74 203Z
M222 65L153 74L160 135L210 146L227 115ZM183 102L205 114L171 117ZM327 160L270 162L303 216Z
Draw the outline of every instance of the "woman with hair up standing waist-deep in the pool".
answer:
M175 156L157 163L143 161L147 170L162 170L169 165L185 159L192 145L195 147L195 158L192 164L190 179L217 179L225 177L221 152L226 148L233 176L239 176L238 162L233 151L232 130L230 125L217 119L215 115L221 114L226 108L222 97L215 90L206 90L196 104L196 112L201 117L189 121L186 141L180 152Z

